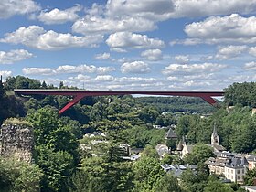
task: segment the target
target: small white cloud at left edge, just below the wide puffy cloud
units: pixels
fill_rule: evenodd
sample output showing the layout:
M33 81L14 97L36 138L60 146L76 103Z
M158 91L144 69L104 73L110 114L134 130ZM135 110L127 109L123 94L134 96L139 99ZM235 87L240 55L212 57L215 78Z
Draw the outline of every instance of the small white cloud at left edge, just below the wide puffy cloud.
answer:
M0 51L0 64L12 64L16 61L28 59L33 56L24 49L10 50L9 52Z

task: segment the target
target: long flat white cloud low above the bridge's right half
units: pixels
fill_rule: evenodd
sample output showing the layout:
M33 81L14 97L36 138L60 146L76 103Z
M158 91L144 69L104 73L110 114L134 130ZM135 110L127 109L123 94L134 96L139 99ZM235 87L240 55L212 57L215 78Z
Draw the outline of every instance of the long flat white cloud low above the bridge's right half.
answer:
M211 73L217 72L226 68L226 65L215 63L202 63L202 64L170 64L162 70L164 75L191 75L196 73Z

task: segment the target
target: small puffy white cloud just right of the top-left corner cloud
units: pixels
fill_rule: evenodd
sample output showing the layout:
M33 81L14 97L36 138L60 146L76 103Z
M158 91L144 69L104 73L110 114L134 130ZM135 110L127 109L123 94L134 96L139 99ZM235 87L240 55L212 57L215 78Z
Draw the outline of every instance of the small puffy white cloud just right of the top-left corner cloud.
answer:
M41 11L38 19L48 25L63 24L68 21L75 21L77 18L79 18L77 12L79 12L81 9L81 5L76 5L65 10L59 10L58 8L55 8L49 12Z

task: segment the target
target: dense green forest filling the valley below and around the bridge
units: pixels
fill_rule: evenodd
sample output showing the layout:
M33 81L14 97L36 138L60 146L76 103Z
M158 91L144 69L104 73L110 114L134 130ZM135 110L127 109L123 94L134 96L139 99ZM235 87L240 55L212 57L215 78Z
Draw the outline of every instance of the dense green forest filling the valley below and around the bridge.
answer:
M216 109L200 99L184 97L127 96L87 97L64 112L71 98L64 96L21 97L14 89L77 89L59 82L59 87L23 76L0 83L0 124L16 117L30 123L35 134L34 163L16 159L0 160L0 190L42 192L232 192L244 191L238 184L224 184L209 175L204 162L213 156L210 144L216 123L220 144L238 153L256 152L256 86L254 82L234 83L225 89L224 101ZM202 118L203 114L210 114ZM178 139L196 144L185 159L165 155L159 159L156 144L165 144L167 129L153 125L175 125ZM93 134L94 137L85 135ZM99 144L90 145L93 141ZM123 159L121 144L142 148L137 161ZM80 146L86 146L85 149ZM160 164L197 164L195 175L187 170L177 179ZM250 184L256 176L245 176Z

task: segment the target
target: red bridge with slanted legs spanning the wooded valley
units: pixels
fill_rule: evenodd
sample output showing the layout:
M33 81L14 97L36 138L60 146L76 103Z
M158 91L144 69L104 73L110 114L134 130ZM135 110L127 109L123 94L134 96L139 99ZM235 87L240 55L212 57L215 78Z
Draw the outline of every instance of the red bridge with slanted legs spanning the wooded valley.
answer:
M16 89L15 93L21 95L64 95L73 96L73 100L59 110L59 114L67 111L82 98L87 96L106 96L106 95L166 95L166 96L187 96L200 97L213 106L217 106L217 101L212 97L224 96L224 91L84 91L84 90L31 90Z

